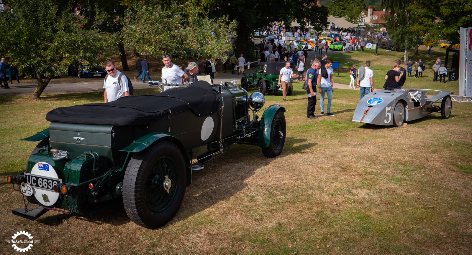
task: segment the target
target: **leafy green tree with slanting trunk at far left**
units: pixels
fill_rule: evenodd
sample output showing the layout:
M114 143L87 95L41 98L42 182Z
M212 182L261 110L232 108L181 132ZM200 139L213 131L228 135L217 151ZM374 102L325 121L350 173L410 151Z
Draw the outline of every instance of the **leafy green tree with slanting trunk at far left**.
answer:
M50 0L15 0L5 4L0 12L0 49L19 71L33 67L38 87L33 99L38 99L51 78L66 71L67 65L80 60L92 66L116 54L113 35L101 33L96 25L104 19L97 14L90 29L87 22L74 14L70 2ZM42 78L40 72L44 73Z

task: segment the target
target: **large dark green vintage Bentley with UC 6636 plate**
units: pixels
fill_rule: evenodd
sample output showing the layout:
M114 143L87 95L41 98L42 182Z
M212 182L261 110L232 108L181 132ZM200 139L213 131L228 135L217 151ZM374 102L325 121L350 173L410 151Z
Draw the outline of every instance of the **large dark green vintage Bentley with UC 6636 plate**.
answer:
M236 83L198 81L51 110L49 128L23 139L39 141L26 172L8 176L28 202L13 214L90 214L122 199L133 222L159 228L177 214L192 171L204 168L196 164L236 143L257 145L266 157L281 153L284 107L271 105L259 119L264 96L249 96Z

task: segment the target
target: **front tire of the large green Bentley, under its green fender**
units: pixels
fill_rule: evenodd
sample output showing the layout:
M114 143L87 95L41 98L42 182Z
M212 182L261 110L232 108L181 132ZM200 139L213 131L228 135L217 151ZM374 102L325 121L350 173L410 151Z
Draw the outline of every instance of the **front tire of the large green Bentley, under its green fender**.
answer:
M274 119L272 120L272 124L270 125L269 147L262 148L262 153L264 154L264 156L276 157L280 155L285 144L286 128L287 125L285 122L285 115L282 110L279 109L275 113ZM282 134L280 134L280 132L282 132Z

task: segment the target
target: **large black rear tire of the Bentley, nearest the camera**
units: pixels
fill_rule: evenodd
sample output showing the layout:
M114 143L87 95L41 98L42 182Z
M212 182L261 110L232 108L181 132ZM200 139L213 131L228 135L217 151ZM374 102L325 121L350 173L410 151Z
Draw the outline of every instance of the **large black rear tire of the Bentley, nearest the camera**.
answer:
M165 176L170 180L169 193L164 189ZM148 229L163 226L182 204L185 180L185 159L176 144L157 141L135 153L123 181L126 214L131 221Z

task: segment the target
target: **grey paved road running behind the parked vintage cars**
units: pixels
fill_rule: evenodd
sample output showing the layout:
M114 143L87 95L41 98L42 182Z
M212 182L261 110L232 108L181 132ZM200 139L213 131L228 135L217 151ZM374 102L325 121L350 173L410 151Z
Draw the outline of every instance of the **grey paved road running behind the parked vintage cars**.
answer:
M338 52L331 52L328 51L327 55L331 55L334 53ZM309 57L307 58L309 61L312 58L319 58L321 59L321 56L319 54L315 55L314 51L309 52ZM249 69L248 71L246 69L246 74L251 73L254 71L254 68ZM222 73L218 72L215 75L214 83L219 83L221 81L241 81L241 75L237 74L231 74L229 71L228 73ZM36 83L36 81L35 81ZM335 88L337 88L338 83L335 83ZM339 84L343 85L343 84ZM0 89L0 96L13 96L13 95L31 95L33 94L33 91L36 89L37 85L35 84L25 84L25 83L13 83L9 84L10 89L5 90L5 89ZM349 86L345 85L346 88L348 89ZM135 82L133 81L133 87L135 89L144 89L144 88L149 88L148 83L142 83L142 82ZM339 88L344 88L343 86ZM46 89L44 89L42 94L53 94L53 93L67 93L67 92L85 92L85 91L101 91L103 90L103 81L101 79L96 80L96 79L84 79L84 82L78 82L78 83L50 83Z

